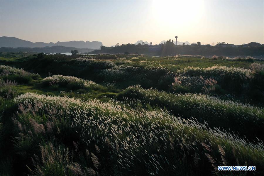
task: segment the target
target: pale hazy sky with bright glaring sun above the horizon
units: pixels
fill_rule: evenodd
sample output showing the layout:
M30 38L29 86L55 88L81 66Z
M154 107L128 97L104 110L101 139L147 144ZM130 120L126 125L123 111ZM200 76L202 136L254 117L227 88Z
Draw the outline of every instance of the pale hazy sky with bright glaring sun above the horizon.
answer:
M0 35L32 42L264 43L264 1L3 1Z

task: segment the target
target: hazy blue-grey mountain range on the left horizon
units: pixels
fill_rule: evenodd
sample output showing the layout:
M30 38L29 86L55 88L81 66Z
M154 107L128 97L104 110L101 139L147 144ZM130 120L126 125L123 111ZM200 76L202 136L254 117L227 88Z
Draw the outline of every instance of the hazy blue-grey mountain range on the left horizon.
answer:
M44 42L31 42L27 40L22 40L16 37L0 37L0 47L46 47L46 46L65 46L65 47L75 47L75 48L90 48L90 49L98 49L103 45L102 42L98 41L69 41L69 42L57 42L57 43L44 43Z

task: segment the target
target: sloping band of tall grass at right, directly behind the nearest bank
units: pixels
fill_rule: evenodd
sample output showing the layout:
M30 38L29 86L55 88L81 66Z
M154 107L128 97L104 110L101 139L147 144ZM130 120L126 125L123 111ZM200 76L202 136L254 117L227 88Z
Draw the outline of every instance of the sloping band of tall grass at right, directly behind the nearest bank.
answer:
M137 98L185 119L206 121L209 127L220 127L250 139L264 139L264 109L237 101L224 101L204 94L170 94L140 86L128 87L123 96ZM251 126L251 128L248 128Z

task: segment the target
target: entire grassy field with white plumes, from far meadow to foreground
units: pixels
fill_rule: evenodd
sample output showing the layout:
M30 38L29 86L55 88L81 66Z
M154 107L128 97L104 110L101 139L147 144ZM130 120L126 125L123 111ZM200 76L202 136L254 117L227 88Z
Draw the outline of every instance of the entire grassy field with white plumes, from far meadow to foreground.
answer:
M263 94L262 61L1 53L0 63L30 71L1 66L13 94L0 94L0 175L264 173L264 110L249 95ZM195 88L201 76L210 92Z

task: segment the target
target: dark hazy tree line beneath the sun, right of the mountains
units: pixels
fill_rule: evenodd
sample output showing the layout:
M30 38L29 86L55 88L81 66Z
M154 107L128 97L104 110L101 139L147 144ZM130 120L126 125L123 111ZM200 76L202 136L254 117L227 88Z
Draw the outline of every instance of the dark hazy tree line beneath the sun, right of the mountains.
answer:
M94 50L91 53L125 53L125 54L146 54L146 55L158 55L158 56L170 56L177 54L187 55L264 55L264 46L260 47L233 47L232 45L225 45L224 42L217 43L215 46L201 45L201 42L197 42L197 45L177 45L173 40L167 40L165 43L159 45L147 45L144 43L135 44L122 44L117 43L114 47L101 46L101 50Z

